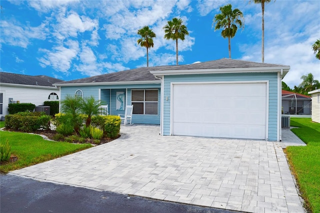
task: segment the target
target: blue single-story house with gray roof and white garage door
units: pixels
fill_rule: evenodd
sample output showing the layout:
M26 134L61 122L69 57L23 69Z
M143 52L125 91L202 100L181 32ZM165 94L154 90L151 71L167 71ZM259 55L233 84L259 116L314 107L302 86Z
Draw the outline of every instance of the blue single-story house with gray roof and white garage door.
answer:
M281 79L289 66L222 58L141 67L55 83L61 98L93 95L109 114L133 104L133 123L161 135L280 140Z

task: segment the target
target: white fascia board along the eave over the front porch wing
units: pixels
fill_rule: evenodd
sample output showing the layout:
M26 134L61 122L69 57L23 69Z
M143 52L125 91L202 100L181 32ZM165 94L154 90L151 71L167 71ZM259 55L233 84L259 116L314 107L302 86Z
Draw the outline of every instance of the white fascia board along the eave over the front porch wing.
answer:
M56 86L88 86L88 85L120 85L120 84L160 84L161 80L137 80L137 81L111 81L111 82L85 82L85 83L54 83Z

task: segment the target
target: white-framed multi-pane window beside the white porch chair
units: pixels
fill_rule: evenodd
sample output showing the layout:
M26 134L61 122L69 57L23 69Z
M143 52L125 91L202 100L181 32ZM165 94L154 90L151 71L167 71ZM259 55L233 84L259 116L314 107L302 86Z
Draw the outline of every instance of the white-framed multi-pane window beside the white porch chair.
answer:
M158 114L157 89L132 89L133 114Z

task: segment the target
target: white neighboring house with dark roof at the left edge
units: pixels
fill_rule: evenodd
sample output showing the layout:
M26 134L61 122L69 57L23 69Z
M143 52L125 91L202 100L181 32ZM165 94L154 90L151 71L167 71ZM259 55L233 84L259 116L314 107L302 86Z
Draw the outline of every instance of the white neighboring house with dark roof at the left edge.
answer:
M0 72L0 118L8 114L9 103L43 105L46 100L58 100L59 88L53 83L62 80L46 75L23 75Z

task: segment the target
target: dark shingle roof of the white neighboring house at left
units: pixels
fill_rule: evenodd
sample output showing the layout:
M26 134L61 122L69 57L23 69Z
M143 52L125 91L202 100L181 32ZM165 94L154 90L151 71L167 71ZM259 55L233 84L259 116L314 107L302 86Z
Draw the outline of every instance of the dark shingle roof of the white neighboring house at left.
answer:
M0 72L1 83L13 83L23 85L38 85L38 86L52 86L53 83L61 82L62 80L49 77L46 75L24 75L9 72Z

